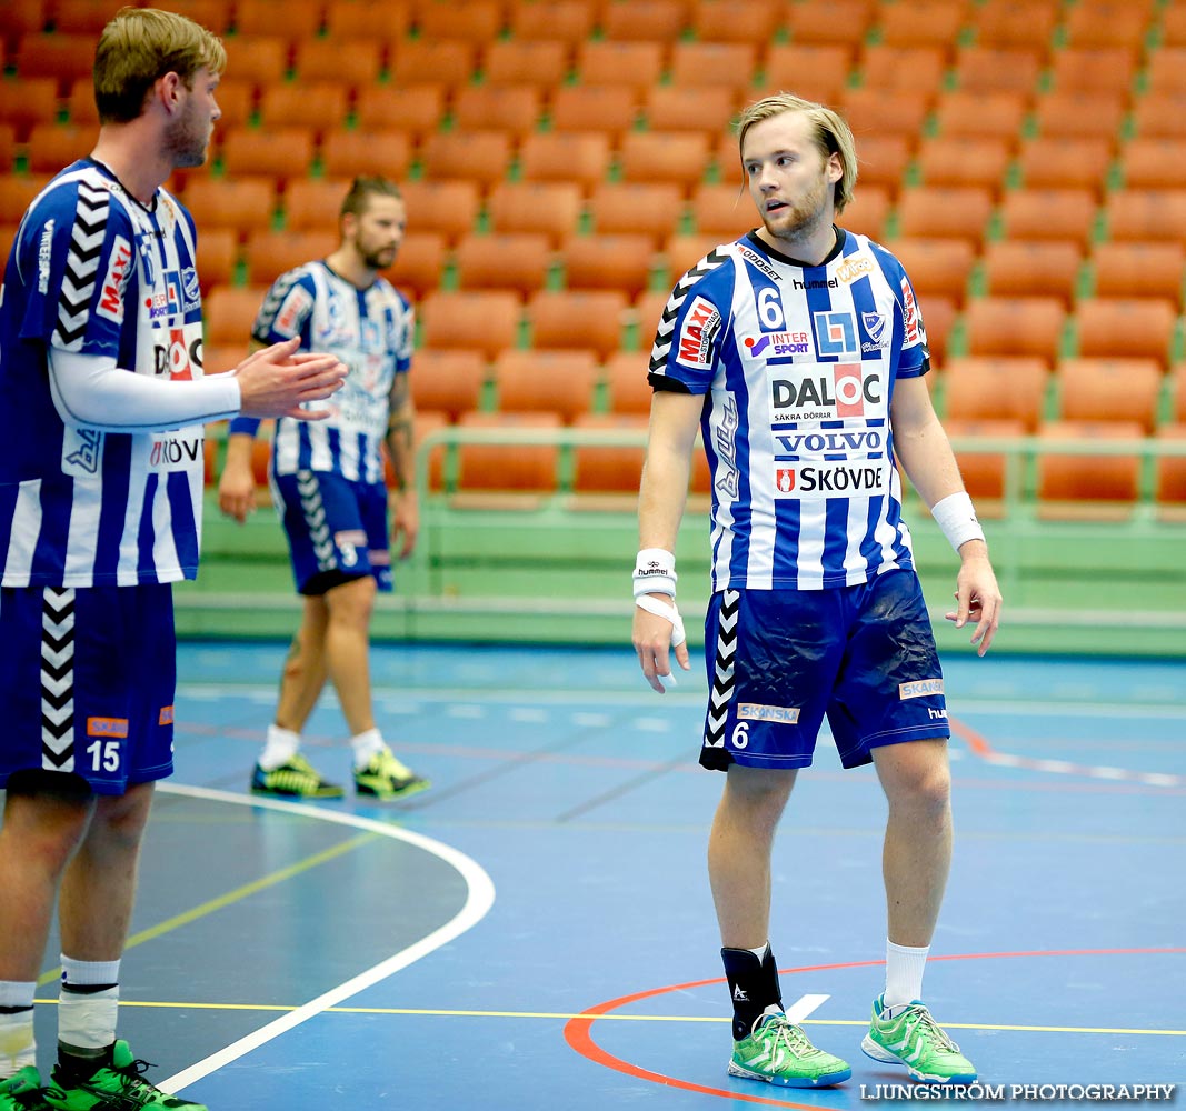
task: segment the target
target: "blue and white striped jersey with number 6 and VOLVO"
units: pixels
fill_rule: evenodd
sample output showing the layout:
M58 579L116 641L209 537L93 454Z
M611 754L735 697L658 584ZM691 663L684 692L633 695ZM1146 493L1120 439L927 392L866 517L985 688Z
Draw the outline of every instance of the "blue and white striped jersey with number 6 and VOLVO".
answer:
M930 369L901 264L837 234L817 267L748 235L676 285L655 389L704 395L713 590L853 586L912 566L890 401Z

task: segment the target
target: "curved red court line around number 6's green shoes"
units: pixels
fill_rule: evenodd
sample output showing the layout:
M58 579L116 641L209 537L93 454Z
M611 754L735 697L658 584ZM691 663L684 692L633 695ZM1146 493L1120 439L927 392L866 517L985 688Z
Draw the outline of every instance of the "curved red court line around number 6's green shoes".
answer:
M931 960L999 960L1008 957L1123 957L1123 956L1161 956L1165 953L1186 953L1186 947L1169 947L1169 949L1050 949L1050 950L1033 950L1029 952L1016 952L1016 953L954 953L949 956L931 957ZM834 969L867 969L873 968L879 964L885 964L884 960L849 960L841 964L812 964L804 965L799 969L780 969L780 976L793 976L797 972L827 972ZM662 1084L665 1087L682 1088L686 1092L700 1092L702 1096L721 1096L725 1099L735 1099L744 1103L755 1103L765 1104L771 1107L797 1107L801 1111L820 1111L818 1104L802 1104L802 1103L790 1103L785 1099L767 1099L763 1096L747 1096L744 1092L738 1092L733 1088L719 1088L708 1087L703 1084L693 1084L690 1080L678 1080L674 1077L665 1077L663 1073L651 1072L649 1068L642 1068L638 1065L632 1065L630 1061L624 1061L621 1058L614 1056L612 1053L602 1049L593 1040L593 1023L610 1014L611 1011L618 1010L631 1003L637 1003L642 1000L650 1000L657 995L667 995L670 991L688 991L693 988L706 988L710 984L722 984L725 983L723 976L716 976L712 979L697 979L687 984L672 984L668 988L651 988L648 991L636 991L633 995L619 996L617 1000L610 1000L607 1003L598 1003L587 1010L581 1011L581 1014L570 1019L565 1026L565 1041L572 1046L581 1056L588 1058L595 1065L604 1065L606 1068L612 1068L614 1072L625 1073L627 1077L635 1077L638 1080L649 1080L651 1084ZM795 1088L788 1088L786 1091L795 1091ZM817 1091L825 1091L824 1088L818 1088Z

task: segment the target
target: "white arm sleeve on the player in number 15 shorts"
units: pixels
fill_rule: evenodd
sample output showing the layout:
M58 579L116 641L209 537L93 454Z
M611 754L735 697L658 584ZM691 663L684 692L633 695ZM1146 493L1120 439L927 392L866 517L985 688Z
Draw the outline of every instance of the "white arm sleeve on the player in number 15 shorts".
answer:
M132 373L107 356L50 349L50 391L71 428L164 432L236 416L242 406L234 375L171 382Z

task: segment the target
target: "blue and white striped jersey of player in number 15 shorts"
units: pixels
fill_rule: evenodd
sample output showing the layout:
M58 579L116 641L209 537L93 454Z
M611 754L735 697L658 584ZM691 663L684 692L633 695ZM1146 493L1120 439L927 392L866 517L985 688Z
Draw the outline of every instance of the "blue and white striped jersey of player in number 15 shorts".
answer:
M203 430L69 428L47 351L114 358L153 377L202 376L190 215L151 207L91 160L59 173L21 221L0 304L2 585L133 586L192 579ZM114 415L113 422L117 422Z

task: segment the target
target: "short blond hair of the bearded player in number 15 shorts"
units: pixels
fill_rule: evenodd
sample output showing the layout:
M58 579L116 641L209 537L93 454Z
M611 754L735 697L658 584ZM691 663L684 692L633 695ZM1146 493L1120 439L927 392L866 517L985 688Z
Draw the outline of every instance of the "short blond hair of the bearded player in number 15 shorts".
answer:
M205 66L227 68L222 40L174 12L125 7L103 27L95 50L95 103L101 123L130 123L144 111L148 92L165 74L186 88Z

